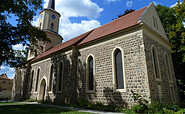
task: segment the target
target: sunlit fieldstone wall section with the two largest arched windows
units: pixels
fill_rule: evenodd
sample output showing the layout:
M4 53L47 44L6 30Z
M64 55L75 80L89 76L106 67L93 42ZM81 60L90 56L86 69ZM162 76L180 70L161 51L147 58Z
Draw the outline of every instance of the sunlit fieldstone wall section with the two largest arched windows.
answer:
M121 48L124 53L126 92L115 92L113 85L113 57L115 48ZM89 55L95 60L95 92L86 90L86 60ZM107 41L93 44L79 50L77 67L78 98L86 97L91 102L104 104L133 105L131 90L150 97L147 67L142 31L132 34L112 36Z

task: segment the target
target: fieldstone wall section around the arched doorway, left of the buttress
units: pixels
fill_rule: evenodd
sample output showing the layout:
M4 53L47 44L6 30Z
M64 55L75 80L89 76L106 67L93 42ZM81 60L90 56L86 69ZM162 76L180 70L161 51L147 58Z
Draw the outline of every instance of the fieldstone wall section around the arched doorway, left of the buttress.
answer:
M42 79L46 80L46 97L45 99L52 102L61 102L61 103L71 103L76 99L75 95L75 79L74 75L74 61L72 60L73 54L70 52L61 52L54 55L52 58L48 60L44 60L43 62L39 62L38 64L32 64L32 70L34 70L34 79L32 85L32 92L30 92L31 99L39 99L40 92L40 84ZM57 90L57 76L59 76L59 63L63 62L63 78L62 78L62 91ZM49 80L50 80L50 68L51 65L54 65L54 74L53 74L53 82L52 82L52 91L49 90ZM40 68L40 76L38 82L37 92L35 91L36 79L37 79L37 70Z

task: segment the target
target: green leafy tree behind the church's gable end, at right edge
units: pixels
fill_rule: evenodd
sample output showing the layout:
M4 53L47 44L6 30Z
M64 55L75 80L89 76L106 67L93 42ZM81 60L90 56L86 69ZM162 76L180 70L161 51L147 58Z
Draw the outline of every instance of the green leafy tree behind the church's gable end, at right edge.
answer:
M185 93L185 0L178 1L175 7L156 6L166 35L172 44L171 53L177 84L181 92Z

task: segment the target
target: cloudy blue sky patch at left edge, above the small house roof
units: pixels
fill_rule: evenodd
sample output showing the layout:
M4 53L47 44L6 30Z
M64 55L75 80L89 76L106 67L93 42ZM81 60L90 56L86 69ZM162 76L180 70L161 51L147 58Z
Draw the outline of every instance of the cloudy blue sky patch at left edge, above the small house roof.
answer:
M1 66L0 74L3 74L3 73L6 73L8 78L13 79L14 76L15 76L15 69L14 68L10 68L8 66Z

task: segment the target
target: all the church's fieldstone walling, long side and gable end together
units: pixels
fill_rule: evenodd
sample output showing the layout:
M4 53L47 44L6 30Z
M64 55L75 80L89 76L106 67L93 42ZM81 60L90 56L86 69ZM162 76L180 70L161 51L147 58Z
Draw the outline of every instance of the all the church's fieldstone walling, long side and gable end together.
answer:
M153 71L151 46L157 49L162 81L156 81ZM119 48L124 56L124 70L126 92L114 91L113 83L113 51ZM139 29L120 33L88 44L84 47L73 47L62 50L52 57L31 64L31 71L34 70L34 78L30 98L39 99L40 85L43 79L46 80L45 99L59 103L74 103L78 99L88 99L91 102L102 102L104 104L116 104L132 106L134 100L131 90L141 95L151 97L159 101L158 85L162 87L164 101L169 102L171 98L170 83L166 75L164 53L167 52L171 58L170 50L164 48L150 38L143 36ZM94 57L95 91L87 92L87 59L89 55ZM57 79L59 76L59 64L63 62L62 91L57 90ZM50 68L54 64L52 91L48 91ZM171 69L173 64L171 61ZM40 68L38 89L35 91L37 70ZM173 73L173 86L176 88L175 75ZM175 89L177 95L177 90ZM178 98L176 98L178 99Z

